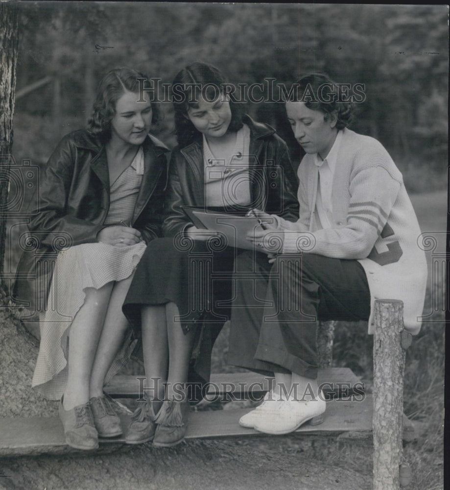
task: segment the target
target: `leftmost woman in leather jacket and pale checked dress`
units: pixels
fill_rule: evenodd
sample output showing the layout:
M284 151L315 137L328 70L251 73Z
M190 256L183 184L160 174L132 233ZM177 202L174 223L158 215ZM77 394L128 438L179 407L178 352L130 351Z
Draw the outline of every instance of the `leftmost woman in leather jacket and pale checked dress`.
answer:
M79 449L122 433L103 384L127 359L131 332L121 306L146 244L162 234L167 148L148 134L158 108L139 97L138 78L145 76L126 68L109 72L89 129L65 136L51 155L29 225L29 244L40 246L24 253L14 292L16 303L41 310L32 384L61 398L66 441ZM36 263L45 270L51 256L45 307L22 278Z

